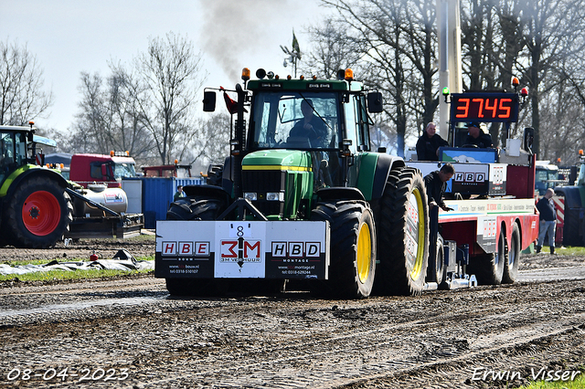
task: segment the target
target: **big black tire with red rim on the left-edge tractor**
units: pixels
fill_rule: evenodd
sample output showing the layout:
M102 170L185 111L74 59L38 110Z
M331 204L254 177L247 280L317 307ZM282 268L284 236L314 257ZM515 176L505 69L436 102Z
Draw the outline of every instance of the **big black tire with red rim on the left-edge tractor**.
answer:
M5 205L5 242L15 247L47 248L63 239L73 221L73 205L65 188L47 176L18 184Z

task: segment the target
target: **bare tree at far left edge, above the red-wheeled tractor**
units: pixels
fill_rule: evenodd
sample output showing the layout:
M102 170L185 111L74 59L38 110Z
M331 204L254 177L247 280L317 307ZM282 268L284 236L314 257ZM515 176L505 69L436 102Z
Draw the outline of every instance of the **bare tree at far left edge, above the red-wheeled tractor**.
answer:
M43 91L43 70L27 46L0 42L0 124L24 125L42 117L52 104L51 91Z

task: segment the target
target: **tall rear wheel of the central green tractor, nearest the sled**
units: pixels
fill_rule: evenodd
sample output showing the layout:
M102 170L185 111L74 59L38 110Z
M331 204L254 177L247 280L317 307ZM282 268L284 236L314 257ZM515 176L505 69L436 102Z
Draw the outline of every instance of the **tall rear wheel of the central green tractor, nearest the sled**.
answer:
M420 294L429 259L429 206L418 169L400 167L388 174L376 225L378 294Z

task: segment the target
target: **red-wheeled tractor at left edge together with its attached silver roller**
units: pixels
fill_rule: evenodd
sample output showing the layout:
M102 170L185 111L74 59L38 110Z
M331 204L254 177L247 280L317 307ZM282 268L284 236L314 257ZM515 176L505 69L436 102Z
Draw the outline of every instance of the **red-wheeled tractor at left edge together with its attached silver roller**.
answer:
M126 214L120 188L67 181L44 165L37 144L56 142L30 127L0 126L0 244L46 248L64 237L132 237L144 226L142 214Z

